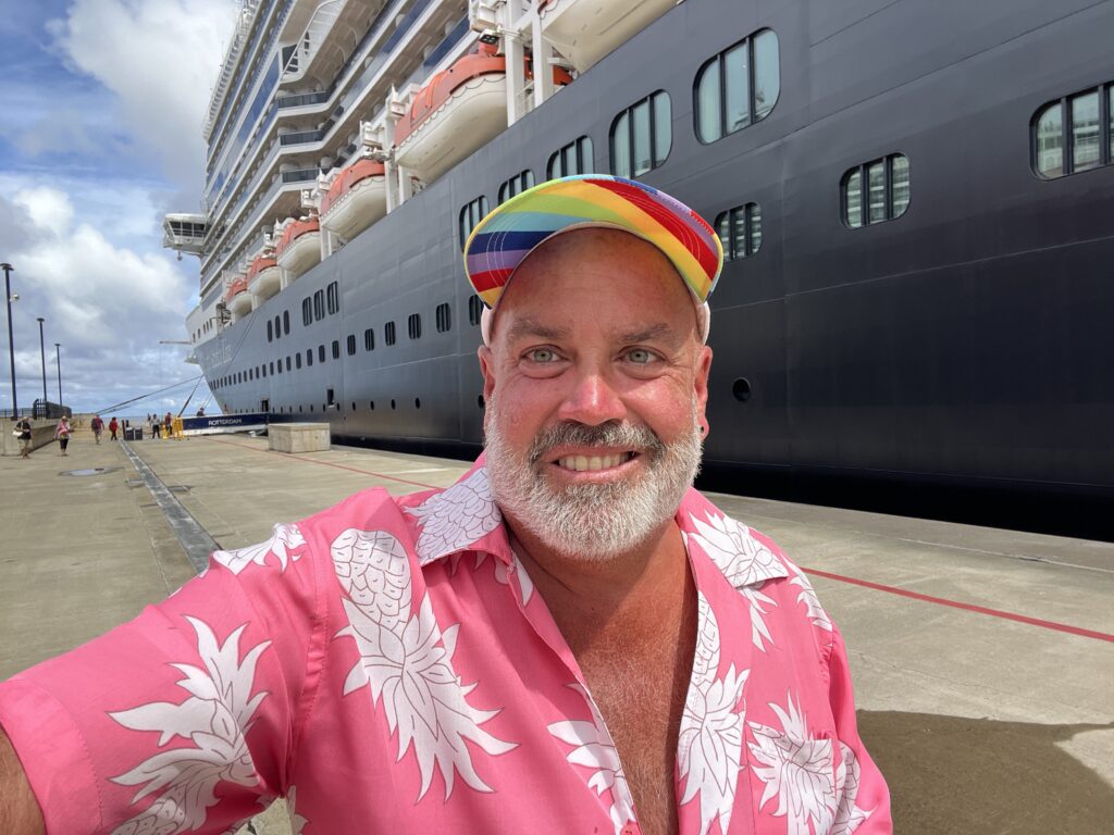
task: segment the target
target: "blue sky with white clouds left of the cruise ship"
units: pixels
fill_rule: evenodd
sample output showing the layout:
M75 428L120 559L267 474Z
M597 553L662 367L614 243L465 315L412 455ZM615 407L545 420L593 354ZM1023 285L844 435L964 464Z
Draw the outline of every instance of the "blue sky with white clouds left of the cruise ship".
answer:
M184 362L198 264L163 249L162 216L196 212L202 121L238 0L0 0L0 261L14 266L21 406L47 391L102 410L196 376ZM7 322L3 326L7 328ZM7 333L0 407L11 405ZM189 389L121 413L177 411ZM192 412L205 401L204 384ZM212 404L211 404L212 409Z

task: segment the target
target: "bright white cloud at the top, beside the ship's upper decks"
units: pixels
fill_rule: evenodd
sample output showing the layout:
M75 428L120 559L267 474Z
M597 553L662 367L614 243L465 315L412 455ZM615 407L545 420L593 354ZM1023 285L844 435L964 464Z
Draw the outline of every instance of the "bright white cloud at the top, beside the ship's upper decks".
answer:
M202 125L235 0L75 0L51 23L57 46L119 98L135 143L168 177L202 188Z

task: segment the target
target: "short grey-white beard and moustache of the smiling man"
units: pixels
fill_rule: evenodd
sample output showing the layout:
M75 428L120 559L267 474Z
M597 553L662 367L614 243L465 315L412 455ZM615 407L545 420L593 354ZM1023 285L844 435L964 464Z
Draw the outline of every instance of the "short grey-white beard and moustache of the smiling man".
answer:
M498 399L488 401L487 469L504 513L568 559L604 561L628 553L672 519L696 478L703 453L696 406L692 429L664 444L645 426L559 423L543 430L527 451L512 449L499 431ZM627 446L641 451L648 470L606 484L556 489L539 460L558 444Z

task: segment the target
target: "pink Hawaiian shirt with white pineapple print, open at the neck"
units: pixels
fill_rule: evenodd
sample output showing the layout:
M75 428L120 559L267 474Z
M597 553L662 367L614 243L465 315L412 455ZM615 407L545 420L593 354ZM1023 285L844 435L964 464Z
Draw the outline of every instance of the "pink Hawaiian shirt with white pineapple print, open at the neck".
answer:
M804 574L696 491L677 740L685 835L889 833L840 635ZM623 765L487 471L368 490L217 551L165 602L0 685L51 834L638 833Z

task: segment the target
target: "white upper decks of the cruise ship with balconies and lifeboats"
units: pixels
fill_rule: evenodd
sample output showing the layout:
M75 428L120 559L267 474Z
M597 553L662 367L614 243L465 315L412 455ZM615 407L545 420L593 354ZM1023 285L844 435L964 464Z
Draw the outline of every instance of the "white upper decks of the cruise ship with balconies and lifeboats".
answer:
M190 338L283 292L676 1L242 0L205 121L204 212L164 223L164 245L201 258Z

